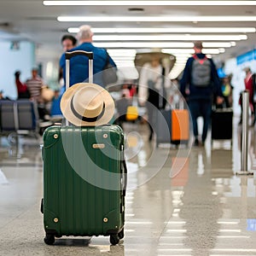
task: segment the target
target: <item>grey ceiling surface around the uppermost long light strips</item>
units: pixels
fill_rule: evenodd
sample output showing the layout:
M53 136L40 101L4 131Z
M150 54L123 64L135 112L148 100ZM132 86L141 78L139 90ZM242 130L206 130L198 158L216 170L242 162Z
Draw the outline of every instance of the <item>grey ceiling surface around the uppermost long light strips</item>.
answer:
M120 1L117 1L119 3ZM193 1L191 1L193 2ZM155 1L157 3L157 1ZM232 3L232 1L230 1ZM0 2L0 40L27 39L42 50L61 54L61 36L71 26L87 22L59 22L57 16L131 16L131 22L90 22L92 27L207 27L207 26L255 26L256 22L137 22L137 16L192 16L192 15L243 15L256 16L256 6L136 6L143 11L131 11L135 6L44 6L41 0L8 0ZM248 33L246 41L236 42L236 47L226 49L218 56L227 59L255 48L256 34ZM178 42L177 42L178 44Z

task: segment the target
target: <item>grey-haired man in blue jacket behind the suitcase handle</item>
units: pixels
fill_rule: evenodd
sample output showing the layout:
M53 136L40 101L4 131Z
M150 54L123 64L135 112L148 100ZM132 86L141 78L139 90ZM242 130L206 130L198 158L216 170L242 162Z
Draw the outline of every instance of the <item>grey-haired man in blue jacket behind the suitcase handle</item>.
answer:
M106 49L95 47L93 42L93 32L90 30L90 26L84 25L79 27L77 38L79 40L79 46L69 50L85 50L93 52L93 73L99 73L94 76L94 83L104 86L102 72L106 66L108 60L113 67L116 67L112 58L109 57ZM60 66L63 68L63 73L66 73L66 61L65 54L61 55ZM83 55L75 56L70 61L70 85L82 83L89 77L88 58ZM64 76L64 80L66 80Z

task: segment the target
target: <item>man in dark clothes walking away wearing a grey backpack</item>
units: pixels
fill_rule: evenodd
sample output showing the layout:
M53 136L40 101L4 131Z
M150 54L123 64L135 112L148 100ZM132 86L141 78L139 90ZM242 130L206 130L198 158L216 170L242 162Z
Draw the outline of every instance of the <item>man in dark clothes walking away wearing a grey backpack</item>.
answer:
M202 48L201 41L196 41L194 44L195 55L188 59L180 81L181 93L189 103L195 146L204 145L207 138L212 113L212 94L217 95L217 104L224 101L216 67L212 59L202 53ZM201 142L198 137L197 125L197 119L200 116L204 122Z

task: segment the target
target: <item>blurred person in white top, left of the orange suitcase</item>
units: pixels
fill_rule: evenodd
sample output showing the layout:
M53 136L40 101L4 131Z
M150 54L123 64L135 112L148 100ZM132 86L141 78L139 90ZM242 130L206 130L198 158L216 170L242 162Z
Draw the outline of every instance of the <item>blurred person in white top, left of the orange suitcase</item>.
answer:
M154 55L151 62L143 65L138 87L138 101L146 106L148 125L150 129L148 140L154 135L154 124L157 118L157 109L166 107L166 88L171 86L171 79L166 77L166 68L161 65L160 57Z

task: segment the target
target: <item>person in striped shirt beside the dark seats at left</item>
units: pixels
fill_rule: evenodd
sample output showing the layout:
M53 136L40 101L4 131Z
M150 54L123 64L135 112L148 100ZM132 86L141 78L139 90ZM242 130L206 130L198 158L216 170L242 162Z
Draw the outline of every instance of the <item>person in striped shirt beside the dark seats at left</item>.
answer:
M49 112L46 109L44 99L42 97L42 87L44 81L38 76L38 68L32 68L32 78L26 80L26 86L30 93L31 99L38 103L38 114L40 119L49 119Z

